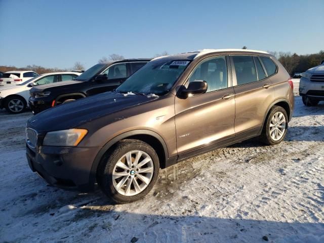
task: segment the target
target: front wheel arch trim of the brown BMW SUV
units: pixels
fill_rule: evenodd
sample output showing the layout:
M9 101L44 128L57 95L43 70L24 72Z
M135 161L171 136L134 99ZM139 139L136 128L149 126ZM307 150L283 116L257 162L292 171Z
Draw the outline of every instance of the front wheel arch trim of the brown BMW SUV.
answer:
M160 168L166 167L166 160L169 156L168 154L168 148L164 141L164 139L158 135L157 133L151 131L151 130L132 130L123 134L120 134L110 141L108 141L98 152L96 155L92 167L91 167L91 173L89 182L90 184L94 184L95 180L97 179L97 169L99 167L99 164L101 162L101 159L103 155L112 148L117 142L123 139L137 139L140 141L143 141L147 144L149 144L157 153L157 156L160 161Z

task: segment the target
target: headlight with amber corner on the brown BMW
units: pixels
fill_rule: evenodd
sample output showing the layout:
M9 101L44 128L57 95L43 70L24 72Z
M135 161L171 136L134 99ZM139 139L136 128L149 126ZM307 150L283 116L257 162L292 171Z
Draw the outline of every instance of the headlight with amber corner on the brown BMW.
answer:
M86 129L69 129L55 132L48 132L45 135L44 146L77 146L87 135Z

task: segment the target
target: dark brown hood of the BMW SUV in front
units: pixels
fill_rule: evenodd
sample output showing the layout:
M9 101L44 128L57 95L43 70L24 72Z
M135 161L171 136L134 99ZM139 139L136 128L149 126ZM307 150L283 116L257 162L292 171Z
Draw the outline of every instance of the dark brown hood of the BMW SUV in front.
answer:
M82 128L91 120L154 99L157 99L157 97L106 92L71 101L38 113L27 121L27 127L33 128L37 132ZM108 125L113 122L113 118L107 117L105 122Z

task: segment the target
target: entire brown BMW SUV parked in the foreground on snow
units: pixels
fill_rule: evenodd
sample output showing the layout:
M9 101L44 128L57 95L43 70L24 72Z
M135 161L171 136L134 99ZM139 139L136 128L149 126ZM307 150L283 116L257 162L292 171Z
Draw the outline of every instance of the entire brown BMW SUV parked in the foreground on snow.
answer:
M115 91L30 118L32 171L60 188L98 184L115 203L138 200L160 168L259 136L287 133L293 83L271 55L202 50L155 58Z

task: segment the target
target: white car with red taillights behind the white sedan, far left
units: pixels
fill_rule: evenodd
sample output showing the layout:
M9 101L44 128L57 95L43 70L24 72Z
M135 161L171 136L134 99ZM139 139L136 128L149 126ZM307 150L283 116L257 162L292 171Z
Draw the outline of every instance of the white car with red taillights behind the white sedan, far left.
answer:
M0 86L19 85L39 74L33 71L8 71L0 79Z

